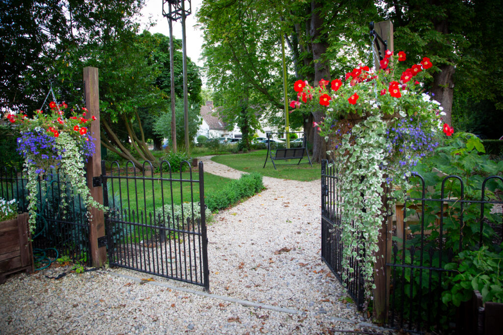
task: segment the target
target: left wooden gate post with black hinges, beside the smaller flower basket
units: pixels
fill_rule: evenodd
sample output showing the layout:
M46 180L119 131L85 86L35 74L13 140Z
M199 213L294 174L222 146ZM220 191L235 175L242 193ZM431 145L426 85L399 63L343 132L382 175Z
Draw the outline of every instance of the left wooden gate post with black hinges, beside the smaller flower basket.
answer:
M98 186L93 186L93 178L97 177L101 181L101 140L100 140L100 95L99 95L99 81L98 81L98 68L85 67L83 70L84 90L86 94L86 108L88 113L87 119L93 116L96 118L91 123L90 133L93 137L95 144L95 153L89 158L87 165L87 179L88 187L91 191L93 198L99 203L103 204L103 187L101 182ZM91 207L88 208L91 213L89 220L89 240L91 245L91 258L94 267L102 267L107 261L107 249L98 243L98 239L105 236L105 216L102 210Z

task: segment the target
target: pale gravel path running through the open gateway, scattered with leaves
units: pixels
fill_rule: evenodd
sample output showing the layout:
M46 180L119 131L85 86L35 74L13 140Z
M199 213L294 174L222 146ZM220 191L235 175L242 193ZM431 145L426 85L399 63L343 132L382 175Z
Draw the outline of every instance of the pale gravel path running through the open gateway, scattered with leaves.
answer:
M200 158L205 172L241 172ZM320 181L264 177L262 193L208 226L210 293L126 270L11 276L0 285L0 334L341 333L377 328L347 302L320 259Z

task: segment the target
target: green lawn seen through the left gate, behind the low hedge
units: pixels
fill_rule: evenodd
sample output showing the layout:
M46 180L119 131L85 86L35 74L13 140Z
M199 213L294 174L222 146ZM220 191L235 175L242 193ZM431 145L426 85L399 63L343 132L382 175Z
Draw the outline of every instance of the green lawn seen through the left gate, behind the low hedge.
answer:
M114 174L116 175L116 174ZM110 176L110 174L107 174ZM121 174L121 177L124 174ZM131 174L129 174L131 176ZM141 176L141 173L140 173ZM122 211L130 209L131 211L144 212L147 216L153 213L155 208L159 208L164 204L181 204L184 202L194 201L199 202L199 183L190 182L190 174L182 173L182 179L187 181L170 181L169 173L164 173L163 179L159 179L159 174L154 174L152 178L147 179L114 179L113 182L108 180L109 205L114 207L113 198L115 199L115 207L118 203L122 203ZM173 178L180 179L180 173L173 173ZM199 173L192 173L193 180L199 180ZM219 177L211 173L204 174L204 192L209 194L220 189L225 183L231 179ZM192 189L191 189L192 188ZM114 195L112 197L112 194Z

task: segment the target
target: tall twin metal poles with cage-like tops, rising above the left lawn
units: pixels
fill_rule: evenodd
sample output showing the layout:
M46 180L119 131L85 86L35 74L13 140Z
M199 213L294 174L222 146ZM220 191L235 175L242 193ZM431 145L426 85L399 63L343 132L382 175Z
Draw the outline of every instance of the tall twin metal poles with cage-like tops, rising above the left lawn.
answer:
M173 47L173 21L182 19L182 55L184 77L184 126L185 126L185 151L189 153L189 101L187 91L187 41L185 38L185 18L191 14L191 0L188 9L185 0L162 0L162 16L167 19L170 27L170 73L171 73L171 140L173 152L177 152L177 130L175 120L175 70Z

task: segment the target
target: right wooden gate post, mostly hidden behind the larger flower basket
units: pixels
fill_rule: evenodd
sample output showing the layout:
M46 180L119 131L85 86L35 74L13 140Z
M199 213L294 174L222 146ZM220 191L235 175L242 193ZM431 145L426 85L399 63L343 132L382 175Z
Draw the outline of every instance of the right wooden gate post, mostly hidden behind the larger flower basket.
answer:
M391 21L382 21L374 25L374 30L381 36L381 38L387 42L387 49L393 50L393 23ZM380 43L380 42L379 42ZM380 44L381 52L384 55L386 50L384 46ZM375 59L376 69L379 69L379 59ZM392 59L390 59L390 63ZM391 66L391 64L389 65ZM386 183L382 185L384 194L381 196L383 205L387 207L387 192L389 187ZM391 208L388 209L392 210ZM376 288L374 289L374 318L375 321L379 323L387 322L388 320L388 308L389 308L389 284L390 284L390 267L386 266L386 262L391 260L391 216L387 216L388 213L382 218L382 226L379 229L379 240L378 247L379 251L376 254L376 264L374 267L374 284Z

